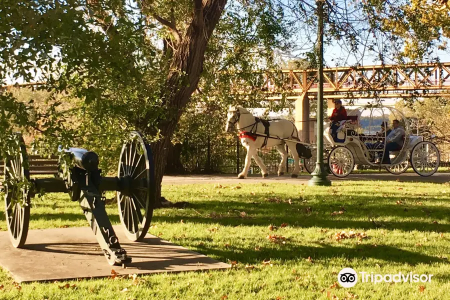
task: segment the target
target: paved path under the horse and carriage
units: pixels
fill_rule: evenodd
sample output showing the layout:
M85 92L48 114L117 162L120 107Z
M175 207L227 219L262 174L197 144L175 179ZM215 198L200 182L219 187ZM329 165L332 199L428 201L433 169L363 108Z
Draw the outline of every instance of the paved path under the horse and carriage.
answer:
M298 178L291 178L290 175L276 176L276 174L269 175L262 178L260 175L248 175L245 179L237 179L234 174L216 174L216 175L178 175L178 176L164 176L162 178L163 184L191 184L191 183L258 183L258 182L281 182L301 184L306 183L310 175L300 175ZM416 173L403 173L401 175L393 175L386 173L376 174L350 174L345 178L338 178L329 175L328 178L332 181L338 180L397 180L415 181L415 182L435 182L444 183L450 182L450 173L435 173L429 177L422 177Z

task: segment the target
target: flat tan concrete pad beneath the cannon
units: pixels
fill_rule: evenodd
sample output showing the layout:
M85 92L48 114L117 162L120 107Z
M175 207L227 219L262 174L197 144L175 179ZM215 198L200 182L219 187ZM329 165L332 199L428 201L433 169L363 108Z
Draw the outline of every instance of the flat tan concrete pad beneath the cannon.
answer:
M132 257L125 269L104 258L90 227L29 230L24 248L11 245L7 231L0 232L0 265L17 282L224 269L230 265L147 234L142 242L129 241L114 226L121 246Z

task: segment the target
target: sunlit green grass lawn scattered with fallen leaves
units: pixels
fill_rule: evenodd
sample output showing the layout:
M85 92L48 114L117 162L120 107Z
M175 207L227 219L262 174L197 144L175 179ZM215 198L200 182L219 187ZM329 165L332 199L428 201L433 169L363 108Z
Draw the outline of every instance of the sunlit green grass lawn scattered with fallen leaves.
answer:
M450 185L341 181L308 187L237 180L222 185L164 185L166 198L191 205L155 210L150 232L232 262L231 269L30 283L20 290L1 270L0 299L450 298ZM118 223L116 205L107 210ZM5 230L3 219L1 212ZM84 225L78 204L66 195L35 199L31 229ZM367 238L336 240L335 233L342 230L364 232ZM433 277L427 283L359 282L339 288L334 283L343 267ZM76 286L58 287L66 283Z

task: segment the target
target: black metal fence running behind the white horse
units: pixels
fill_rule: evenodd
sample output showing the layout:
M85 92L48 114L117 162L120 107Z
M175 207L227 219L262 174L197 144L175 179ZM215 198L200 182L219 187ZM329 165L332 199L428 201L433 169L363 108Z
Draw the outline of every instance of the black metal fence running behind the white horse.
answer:
M436 144L440 152L440 166L450 167L450 143ZM293 159L287 149L289 158L286 161L287 172L292 171ZM183 143L181 163L188 173L238 173L245 164L246 149L238 139L234 141L214 141ZM275 148L258 149L258 155L267 166L269 173L276 173L281 155ZM300 166L303 163L300 159ZM250 173L260 173L256 162L252 159Z

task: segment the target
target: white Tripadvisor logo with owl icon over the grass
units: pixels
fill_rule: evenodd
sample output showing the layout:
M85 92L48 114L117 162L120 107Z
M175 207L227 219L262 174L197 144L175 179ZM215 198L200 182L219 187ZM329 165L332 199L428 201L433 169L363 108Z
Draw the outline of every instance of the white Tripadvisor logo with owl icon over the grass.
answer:
M375 274L373 272L358 272L360 282L431 282L432 274L413 274L398 272L396 274ZM345 267L337 274L337 282L343 287L352 287L358 281L358 273L351 267Z

